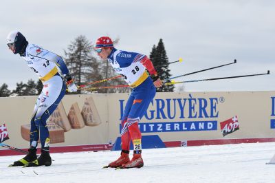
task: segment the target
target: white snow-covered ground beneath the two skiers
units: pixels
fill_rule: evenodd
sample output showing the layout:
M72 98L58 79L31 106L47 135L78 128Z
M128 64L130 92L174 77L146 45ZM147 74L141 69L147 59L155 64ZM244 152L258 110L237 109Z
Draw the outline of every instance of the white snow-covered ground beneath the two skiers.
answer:
M275 182L275 142L144 149L141 169L102 169L119 151L52 153L52 166L7 167L22 155L0 157L0 182Z

